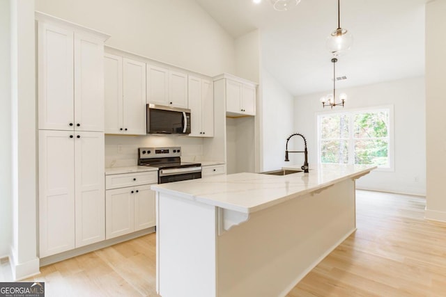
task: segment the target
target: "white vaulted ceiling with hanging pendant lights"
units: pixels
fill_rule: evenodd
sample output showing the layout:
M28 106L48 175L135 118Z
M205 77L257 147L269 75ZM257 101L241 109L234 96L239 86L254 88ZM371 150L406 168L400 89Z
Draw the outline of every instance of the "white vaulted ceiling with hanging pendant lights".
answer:
M261 64L293 95L332 88L325 40L337 28L336 0L302 0L276 11L270 0L196 0L237 38L259 29ZM353 34L339 58L337 88L424 75L424 5L427 0L341 0L341 27Z

